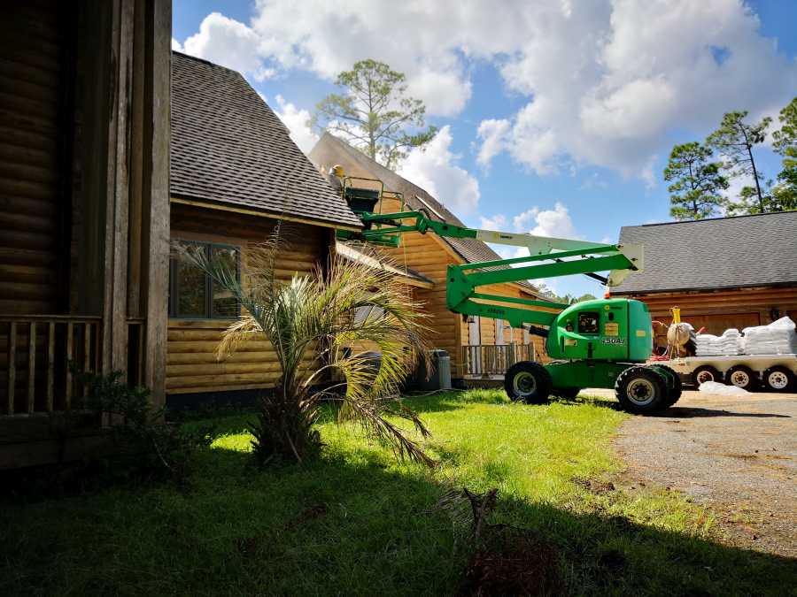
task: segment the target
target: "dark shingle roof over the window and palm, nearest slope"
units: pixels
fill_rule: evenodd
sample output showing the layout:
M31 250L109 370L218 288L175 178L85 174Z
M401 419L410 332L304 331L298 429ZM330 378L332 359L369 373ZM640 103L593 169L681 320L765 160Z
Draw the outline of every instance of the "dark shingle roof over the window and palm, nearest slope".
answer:
M360 227L236 71L172 53L171 193Z

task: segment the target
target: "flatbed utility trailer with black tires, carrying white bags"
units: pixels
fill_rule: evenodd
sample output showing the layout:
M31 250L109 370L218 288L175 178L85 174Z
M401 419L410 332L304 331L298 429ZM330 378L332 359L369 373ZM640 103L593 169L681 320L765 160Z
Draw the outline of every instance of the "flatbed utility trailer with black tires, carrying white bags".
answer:
M684 383L698 387L716 381L748 392L797 392L797 355L683 356L648 363L666 364Z

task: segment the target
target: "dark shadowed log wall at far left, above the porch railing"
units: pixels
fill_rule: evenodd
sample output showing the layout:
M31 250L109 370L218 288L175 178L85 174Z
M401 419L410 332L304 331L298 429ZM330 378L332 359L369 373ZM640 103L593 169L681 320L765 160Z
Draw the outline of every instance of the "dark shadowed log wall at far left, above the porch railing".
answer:
M0 34L0 313L64 305L69 38L58 2L4 4Z

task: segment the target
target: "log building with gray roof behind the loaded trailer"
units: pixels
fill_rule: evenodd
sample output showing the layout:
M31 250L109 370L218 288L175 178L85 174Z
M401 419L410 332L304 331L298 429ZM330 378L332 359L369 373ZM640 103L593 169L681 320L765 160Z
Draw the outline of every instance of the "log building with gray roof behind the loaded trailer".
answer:
M647 303L656 345L666 346L671 307L695 330L721 334L797 321L797 211L623 226L620 242L645 245L645 271L612 295Z

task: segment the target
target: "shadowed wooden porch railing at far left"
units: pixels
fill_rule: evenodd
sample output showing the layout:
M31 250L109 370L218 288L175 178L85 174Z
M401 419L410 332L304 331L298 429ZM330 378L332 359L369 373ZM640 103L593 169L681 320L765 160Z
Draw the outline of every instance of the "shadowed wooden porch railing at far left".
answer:
M50 413L69 409L87 388L83 371L102 365L102 318L70 315L0 317L0 413Z

